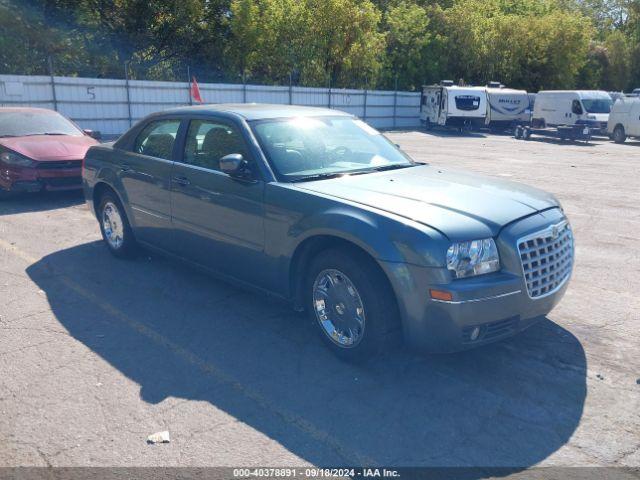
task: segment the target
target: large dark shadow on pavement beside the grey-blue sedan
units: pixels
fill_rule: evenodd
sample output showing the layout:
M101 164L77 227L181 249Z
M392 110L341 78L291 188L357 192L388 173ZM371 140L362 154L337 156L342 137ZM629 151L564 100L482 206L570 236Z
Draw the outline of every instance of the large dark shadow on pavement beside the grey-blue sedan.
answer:
M354 366L287 305L163 257L117 260L93 242L27 273L145 402L209 402L316 465L520 470L567 443L582 416L584 351L548 319L468 352Z

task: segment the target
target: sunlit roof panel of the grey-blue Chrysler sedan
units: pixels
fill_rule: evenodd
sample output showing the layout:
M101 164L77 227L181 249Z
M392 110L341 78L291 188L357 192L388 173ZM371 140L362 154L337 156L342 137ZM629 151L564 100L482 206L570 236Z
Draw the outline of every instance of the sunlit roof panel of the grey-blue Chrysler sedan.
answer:
M287 117L326 117L352 116L349 113L330 108L306 107L301 105L278 105L268 103L216 103L208 105L194 105L164 110L162 114L190 114L190 113L234 113L246 120L263 120L268 118Z

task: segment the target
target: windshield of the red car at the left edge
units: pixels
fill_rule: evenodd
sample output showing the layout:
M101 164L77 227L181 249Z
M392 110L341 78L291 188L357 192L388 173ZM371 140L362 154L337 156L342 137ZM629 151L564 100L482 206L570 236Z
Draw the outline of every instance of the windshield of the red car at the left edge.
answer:
M27 135L81 136L83 133L69 120L53 111L0 112L0 137Z

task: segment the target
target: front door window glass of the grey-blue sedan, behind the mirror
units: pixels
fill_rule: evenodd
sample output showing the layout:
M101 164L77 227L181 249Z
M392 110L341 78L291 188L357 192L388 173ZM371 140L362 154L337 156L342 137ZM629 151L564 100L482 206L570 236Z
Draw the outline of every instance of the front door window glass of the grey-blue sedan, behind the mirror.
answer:
M220 159L240 154L249 160L240 132L233 126L212 120L192 120L184 148L184 162L210 170L220 170Z

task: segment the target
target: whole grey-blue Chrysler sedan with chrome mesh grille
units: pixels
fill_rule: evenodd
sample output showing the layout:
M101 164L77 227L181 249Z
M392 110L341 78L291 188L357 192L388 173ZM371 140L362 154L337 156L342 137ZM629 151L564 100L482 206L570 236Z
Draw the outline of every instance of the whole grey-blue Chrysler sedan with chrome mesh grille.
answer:
M114 255L152 248L290 300L346 359L513 335L573 266L552 195L416 164L335 110L164 111L92 147L83 180Z

